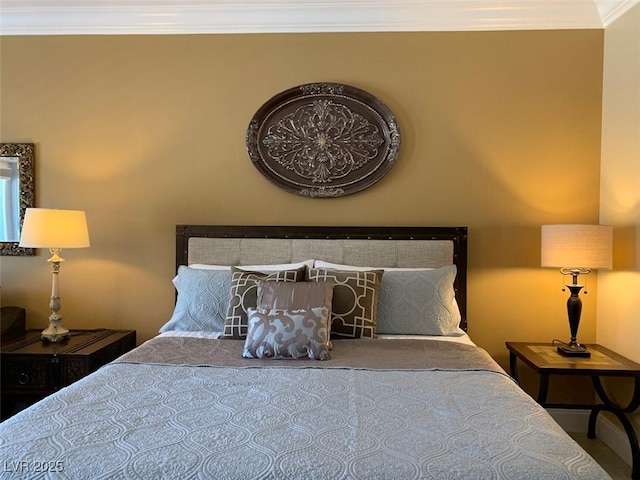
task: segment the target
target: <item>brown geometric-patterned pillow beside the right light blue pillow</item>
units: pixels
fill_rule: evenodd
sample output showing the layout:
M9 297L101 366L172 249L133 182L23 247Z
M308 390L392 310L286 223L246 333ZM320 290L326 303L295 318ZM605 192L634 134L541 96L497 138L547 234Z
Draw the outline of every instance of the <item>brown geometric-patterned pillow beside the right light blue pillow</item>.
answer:
M374 338L383 270L351 272L310 268L307 279L333 283L331 336Z

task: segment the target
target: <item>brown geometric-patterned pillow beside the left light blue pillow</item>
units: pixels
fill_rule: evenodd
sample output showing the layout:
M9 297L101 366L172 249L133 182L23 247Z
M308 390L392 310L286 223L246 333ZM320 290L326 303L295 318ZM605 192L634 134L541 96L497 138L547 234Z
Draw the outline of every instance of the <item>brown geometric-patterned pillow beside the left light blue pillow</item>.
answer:
M258 282L260 280L277 282L302 282L306 266L293 270L280 270L272 273L249 272L239 268L231 269L231 299L224 323L222 338L244 339L247 336L247 309L256 308Z

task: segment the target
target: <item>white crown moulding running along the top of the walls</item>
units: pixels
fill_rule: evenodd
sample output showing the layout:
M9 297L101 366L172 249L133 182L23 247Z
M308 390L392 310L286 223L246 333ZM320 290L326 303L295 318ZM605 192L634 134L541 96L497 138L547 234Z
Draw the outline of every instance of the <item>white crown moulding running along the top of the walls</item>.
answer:
M0 0L1 35L600 29L640 0Z

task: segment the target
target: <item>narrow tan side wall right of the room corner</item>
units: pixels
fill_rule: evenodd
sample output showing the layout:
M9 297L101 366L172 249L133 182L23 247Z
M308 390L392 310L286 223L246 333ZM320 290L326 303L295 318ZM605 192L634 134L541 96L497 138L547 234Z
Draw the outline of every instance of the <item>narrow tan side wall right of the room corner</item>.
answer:
M605 31L601 222L614 226L614 268L600 275L597 339L640 363L640 5ZM632 381L612 396L628 403ZM633 416L640 432L640 413Z

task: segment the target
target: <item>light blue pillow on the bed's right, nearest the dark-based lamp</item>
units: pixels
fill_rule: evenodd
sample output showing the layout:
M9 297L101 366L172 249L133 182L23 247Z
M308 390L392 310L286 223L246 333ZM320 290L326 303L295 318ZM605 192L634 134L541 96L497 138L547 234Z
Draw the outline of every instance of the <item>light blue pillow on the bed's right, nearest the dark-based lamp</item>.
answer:
M379 334L461 335L453 282L456 266L387 270L378 301Z

